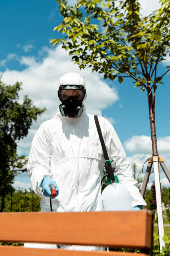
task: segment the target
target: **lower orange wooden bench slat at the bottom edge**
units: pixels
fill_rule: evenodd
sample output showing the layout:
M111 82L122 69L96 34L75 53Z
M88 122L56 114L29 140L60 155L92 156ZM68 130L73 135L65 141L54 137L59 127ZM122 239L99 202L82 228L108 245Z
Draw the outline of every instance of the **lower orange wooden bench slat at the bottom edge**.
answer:
M106 251L75 251L62 249L34 249L17 246L0 246L0 255L3 256L134 256L134 253ZM140 256L148 256L140 253Z

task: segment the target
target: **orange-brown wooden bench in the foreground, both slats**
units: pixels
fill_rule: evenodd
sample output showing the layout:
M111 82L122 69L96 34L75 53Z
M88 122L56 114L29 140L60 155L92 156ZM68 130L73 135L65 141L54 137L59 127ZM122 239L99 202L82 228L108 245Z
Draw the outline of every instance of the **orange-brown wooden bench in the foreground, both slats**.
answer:
M130 212L11 212L0 213L1 242L40 242L141 249L152 252L152 215ZM75 251L0 246L2 256L134 256L113 251Z

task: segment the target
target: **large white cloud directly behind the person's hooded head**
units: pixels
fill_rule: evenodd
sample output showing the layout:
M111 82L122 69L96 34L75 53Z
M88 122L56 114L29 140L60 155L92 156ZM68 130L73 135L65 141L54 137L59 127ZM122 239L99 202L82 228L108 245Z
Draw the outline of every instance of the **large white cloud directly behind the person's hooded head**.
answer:
M42 57L44 56L45 57ZM40 61L37 61L40 59ZM116 102L119 97L114 87L109 87L98 73L92 73L91 69L79 70L79 67L71 61L68 52L61 45L49 49L44 47L39 56L22 56L17 58L20 64L26 65L23 71L6 70L2 73L2 80L6 84L14 84L16 81L23 82L20 91L20 102L24 95L28 95L34 101L34 105L47 111L34 123L26 138L18 144L18 151L26 155L29 153L31 140L35 131L45 120L51 119L60 102L57 96L58 79L64 73L77 72L85 77L87 100L85 107L88 113L102 115L102 110ZM113 122L113 119L110 119Z

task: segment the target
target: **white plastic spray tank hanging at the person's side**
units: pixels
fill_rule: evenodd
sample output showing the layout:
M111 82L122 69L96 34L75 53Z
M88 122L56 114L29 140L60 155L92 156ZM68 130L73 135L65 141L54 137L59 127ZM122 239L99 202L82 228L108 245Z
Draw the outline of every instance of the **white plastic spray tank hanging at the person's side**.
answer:
M108 186L102 191L102 204L104 211L133 211L132 198L129 190L119 183L117 175L115 182L108 178Z

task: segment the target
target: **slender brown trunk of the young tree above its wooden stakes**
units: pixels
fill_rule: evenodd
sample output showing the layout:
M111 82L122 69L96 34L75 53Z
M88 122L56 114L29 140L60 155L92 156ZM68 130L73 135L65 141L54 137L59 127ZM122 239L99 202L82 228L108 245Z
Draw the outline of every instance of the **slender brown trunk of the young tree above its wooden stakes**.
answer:
M147 92L148 103L149 103L149 119L150 119L150 131L151 131L151 140L152 140L152 154L153 156L159 156L157 149L157 140L156 140L156 126L155 126L155 102L153 102L152 91Z

